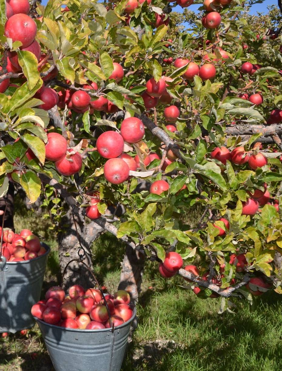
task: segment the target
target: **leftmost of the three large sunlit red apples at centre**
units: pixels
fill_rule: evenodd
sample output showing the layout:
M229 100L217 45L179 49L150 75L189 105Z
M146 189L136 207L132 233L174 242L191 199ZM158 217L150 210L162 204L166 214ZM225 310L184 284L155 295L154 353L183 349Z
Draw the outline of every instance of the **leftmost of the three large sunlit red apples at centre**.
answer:
M105 131L99 135L96 147L102 157L118 157L124 150L124 139L116 131Z

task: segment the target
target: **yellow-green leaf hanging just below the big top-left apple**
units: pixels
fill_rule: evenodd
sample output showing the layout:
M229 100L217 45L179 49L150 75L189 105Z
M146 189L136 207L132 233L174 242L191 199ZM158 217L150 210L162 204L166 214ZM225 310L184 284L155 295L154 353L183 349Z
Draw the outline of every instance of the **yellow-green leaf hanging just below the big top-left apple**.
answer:
M19 65L22 67L23 74L26 76L27 85L32 90L39 80L38 61L32 52L27 50L17 50Z

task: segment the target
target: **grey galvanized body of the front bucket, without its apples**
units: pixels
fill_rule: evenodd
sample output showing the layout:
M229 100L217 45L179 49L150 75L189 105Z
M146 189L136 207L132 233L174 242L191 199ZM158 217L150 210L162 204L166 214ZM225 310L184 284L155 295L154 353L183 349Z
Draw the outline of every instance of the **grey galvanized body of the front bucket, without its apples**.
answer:
M36 319L56 371L119 371L130 325L136 315L114 329L79 330Z

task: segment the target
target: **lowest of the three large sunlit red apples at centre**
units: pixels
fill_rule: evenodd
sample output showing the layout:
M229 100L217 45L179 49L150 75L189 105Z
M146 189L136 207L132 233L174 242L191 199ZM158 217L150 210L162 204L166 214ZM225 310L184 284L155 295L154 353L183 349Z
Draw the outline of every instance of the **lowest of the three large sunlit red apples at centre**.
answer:
M104 165L104 176L112 184L121 184L129 177L129 167L121 158L110 158Z

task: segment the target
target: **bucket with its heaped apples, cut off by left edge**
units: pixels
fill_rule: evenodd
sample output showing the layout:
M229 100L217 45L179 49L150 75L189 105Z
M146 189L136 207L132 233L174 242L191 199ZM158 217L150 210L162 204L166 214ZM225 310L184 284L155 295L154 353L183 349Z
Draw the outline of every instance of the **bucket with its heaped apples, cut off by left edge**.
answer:
M0 236L2 228L0 227ZM3 230L0 257L0 332L35 325L30 309L40 299L49 247L30 230Z

